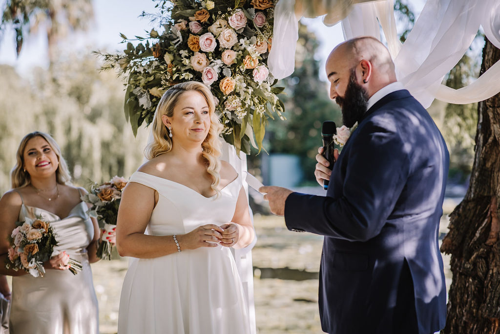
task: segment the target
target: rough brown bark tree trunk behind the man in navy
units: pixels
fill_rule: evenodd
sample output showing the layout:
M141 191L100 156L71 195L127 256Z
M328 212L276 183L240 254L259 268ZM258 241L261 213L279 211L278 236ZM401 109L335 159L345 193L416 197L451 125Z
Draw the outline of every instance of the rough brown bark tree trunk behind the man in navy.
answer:
M500 50L486 40L482 57L481 74L500 59ZM500 334L499 107L500 94L478 104L470 185L441 245L451 254L453 273L445 334Z

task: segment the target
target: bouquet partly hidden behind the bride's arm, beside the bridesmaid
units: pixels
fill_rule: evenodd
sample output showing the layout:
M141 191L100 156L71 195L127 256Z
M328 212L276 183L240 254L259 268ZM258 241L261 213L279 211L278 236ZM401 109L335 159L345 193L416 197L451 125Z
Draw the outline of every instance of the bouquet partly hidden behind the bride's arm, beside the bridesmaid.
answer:
M97 248L97 256L101 259L111 259L112 245L108 241L107 235L116 228L121 190L126 183L125 178L114 176L109 182L101 185L92 183L87 189L88 193L81 196L82 201L92 205L88 215L97 219L99 227L104 229Z

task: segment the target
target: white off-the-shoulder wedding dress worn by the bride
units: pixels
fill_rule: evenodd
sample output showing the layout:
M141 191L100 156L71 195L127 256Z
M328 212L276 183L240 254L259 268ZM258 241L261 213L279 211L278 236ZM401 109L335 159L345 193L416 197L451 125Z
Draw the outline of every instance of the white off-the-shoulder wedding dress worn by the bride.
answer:
M239 175L211 197L142 172L133 173L129 182L159 194L146 229L150 235L185 234L204 224L229 222L241 189ZM247 304L229 248L200 247L130 261L121 289L119 334L249 332Z

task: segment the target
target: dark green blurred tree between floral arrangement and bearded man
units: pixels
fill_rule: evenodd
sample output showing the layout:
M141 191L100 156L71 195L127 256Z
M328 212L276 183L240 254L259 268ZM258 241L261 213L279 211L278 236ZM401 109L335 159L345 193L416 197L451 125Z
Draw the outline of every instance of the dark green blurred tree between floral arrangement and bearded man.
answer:
M315 35L299 26L295 53L295 71L282 80L286 120L272 122L268 127L270 153L288 153L300 157L304 183L315 182L314 159L321 146L321 126L326 120L341 125L338 106L329 99L325 82L318 79L319 62L314 58L318 49Z

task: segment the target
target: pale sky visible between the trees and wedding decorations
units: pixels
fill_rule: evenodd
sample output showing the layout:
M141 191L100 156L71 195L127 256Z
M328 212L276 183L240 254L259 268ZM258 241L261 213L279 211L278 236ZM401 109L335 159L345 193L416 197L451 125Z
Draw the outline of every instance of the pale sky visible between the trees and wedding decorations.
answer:
M5 0L0 0L0 8L3 9ZM142 11L146 13L156 13L154 2L148 0L94 0L94 20L91 29L85 33L72 35L69 41L61 46L62 52L88 52L90 50L100 51L122 51L124 44L120 44L119 33L123 33L128 38L133 36L144 36L145 31L150 31L154 26L149 21L138 16ZM316 58L320 61L321 67L331 49L343 41L343 34L340 25L328 28L325 27L321 19L302 19L311 31L316 33L320 41L320 48ZM0 64L14 66L22 76L27 76L35 66L46 67L46 37L43 34L29 35L24 38L22 50L17 58L15 55L14 32L9 29L2 36L0 41ZM326 80L324 73L320 73L321 78Z

